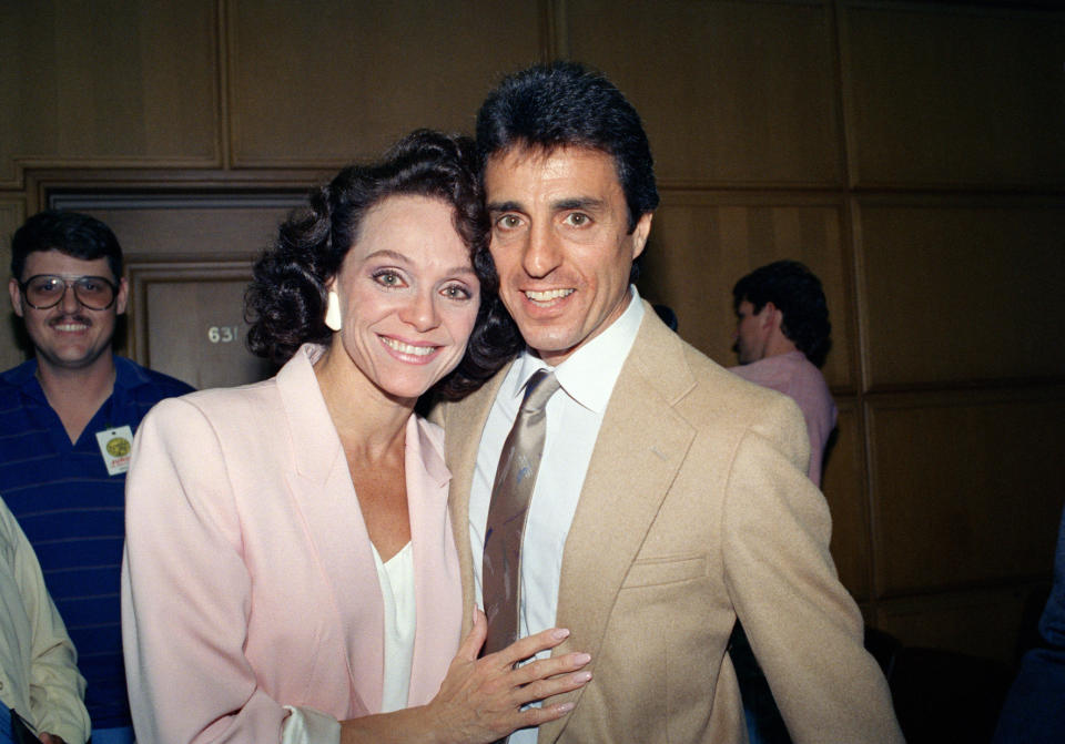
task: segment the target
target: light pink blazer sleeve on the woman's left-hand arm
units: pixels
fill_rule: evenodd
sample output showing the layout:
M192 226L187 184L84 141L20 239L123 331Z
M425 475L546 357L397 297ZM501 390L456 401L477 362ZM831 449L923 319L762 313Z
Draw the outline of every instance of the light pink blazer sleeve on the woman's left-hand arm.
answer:
M139 742L281 741L287 712L243 652L251 593L219 438L193 405L163 401L126 479L122 631Z

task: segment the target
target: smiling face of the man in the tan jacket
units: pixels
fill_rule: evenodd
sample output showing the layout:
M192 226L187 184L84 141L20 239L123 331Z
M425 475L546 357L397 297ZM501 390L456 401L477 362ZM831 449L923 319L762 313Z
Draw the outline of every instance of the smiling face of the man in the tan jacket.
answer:
M499 296L526 344L558 365L625 312L651 214L630 234L613 159L578 146L493 155L485 198Z

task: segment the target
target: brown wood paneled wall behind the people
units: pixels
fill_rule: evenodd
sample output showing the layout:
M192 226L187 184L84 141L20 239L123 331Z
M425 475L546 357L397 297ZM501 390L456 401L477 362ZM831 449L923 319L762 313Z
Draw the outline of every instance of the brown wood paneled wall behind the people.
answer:
M235 323L247 256L284 213L226 200L298 195L415 126L470 131L498 77L530 62L604 70L651 137L662 206L640 289L681 335L733 364L737 278L792 257L825 284L840 429L824 490L869 621L1012 661L1065 498L1056 3L0 7L0 232L57 194L120 193L87 203L130 254L128 349L164 369L189 355L149 348L153 334L191 349L200 326ZM21 358L12 334L3 367ZM257 374L215 350L196 358Z

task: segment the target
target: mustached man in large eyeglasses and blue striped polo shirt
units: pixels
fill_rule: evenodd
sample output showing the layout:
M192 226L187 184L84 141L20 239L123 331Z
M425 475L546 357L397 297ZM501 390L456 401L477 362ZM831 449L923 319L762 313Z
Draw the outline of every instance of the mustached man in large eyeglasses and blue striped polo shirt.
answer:
M0 493L78 649L93 744L132 741L119 623L125 469L148 409L192 388L112 353L129 287L99 220L27 220L8 291L34 358L0 374Z

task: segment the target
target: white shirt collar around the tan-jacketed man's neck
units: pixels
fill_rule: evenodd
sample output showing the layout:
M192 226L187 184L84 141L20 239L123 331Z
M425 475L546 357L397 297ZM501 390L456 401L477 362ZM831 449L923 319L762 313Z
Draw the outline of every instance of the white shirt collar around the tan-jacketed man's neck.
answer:
M594 412L605 411L642 320L643 302L636 285L630 285L629 305L618 319L554 368L566 395ZM515 398L524 395L526 383L538 369L551 367L526 348L507 375L501 391Z

